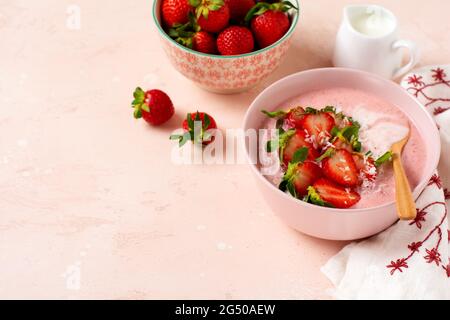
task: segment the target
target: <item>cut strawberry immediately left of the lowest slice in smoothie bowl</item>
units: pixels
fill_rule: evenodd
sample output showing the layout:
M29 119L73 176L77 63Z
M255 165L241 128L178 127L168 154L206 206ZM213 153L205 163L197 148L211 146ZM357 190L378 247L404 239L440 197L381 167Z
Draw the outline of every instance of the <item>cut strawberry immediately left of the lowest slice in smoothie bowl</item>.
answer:
M320 177L322 177L320 167L314 162L306 161L289 168L285 180L295 188L295 196L299 198L305 196L308 193L308 187Z

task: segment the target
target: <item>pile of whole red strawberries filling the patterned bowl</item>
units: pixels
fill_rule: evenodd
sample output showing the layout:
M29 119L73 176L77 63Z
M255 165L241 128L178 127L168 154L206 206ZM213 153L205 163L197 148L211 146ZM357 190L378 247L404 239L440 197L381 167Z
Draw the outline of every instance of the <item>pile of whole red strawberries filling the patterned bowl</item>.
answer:
M162 19L178 43L206 54L233 56L266 48L291 26L289 1L164 0Z

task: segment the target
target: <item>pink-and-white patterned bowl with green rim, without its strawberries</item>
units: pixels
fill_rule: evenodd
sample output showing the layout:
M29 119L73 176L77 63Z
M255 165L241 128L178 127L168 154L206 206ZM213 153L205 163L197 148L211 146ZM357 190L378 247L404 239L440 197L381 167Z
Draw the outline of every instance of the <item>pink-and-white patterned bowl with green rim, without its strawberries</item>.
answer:
M171 39L162 27L161 3L162 0L154 1L153 18L170 62L199 87L221 94L247 91L270 76L286 56L299 18L298 12L292 10L290 29L267 48L243 55L219 56L191 50ZM299 7L298 0L292 3Z

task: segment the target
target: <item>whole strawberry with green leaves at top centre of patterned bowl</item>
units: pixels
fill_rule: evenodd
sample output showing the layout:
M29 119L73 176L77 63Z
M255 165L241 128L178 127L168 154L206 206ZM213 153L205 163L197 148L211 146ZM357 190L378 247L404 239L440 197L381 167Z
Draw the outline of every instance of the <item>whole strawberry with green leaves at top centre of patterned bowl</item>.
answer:
M228 26L230 9L224 0L189 0L203 31L218 33Z

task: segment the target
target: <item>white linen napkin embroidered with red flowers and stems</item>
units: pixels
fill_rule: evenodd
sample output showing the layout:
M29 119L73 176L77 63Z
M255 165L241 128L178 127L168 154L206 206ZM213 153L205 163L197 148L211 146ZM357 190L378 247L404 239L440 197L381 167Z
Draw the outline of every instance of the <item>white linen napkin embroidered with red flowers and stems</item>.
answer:
M337 299L450 299L450 65L416 70L401 85L440 128L440 175L419 197L415 221L351 243L322 267Z

